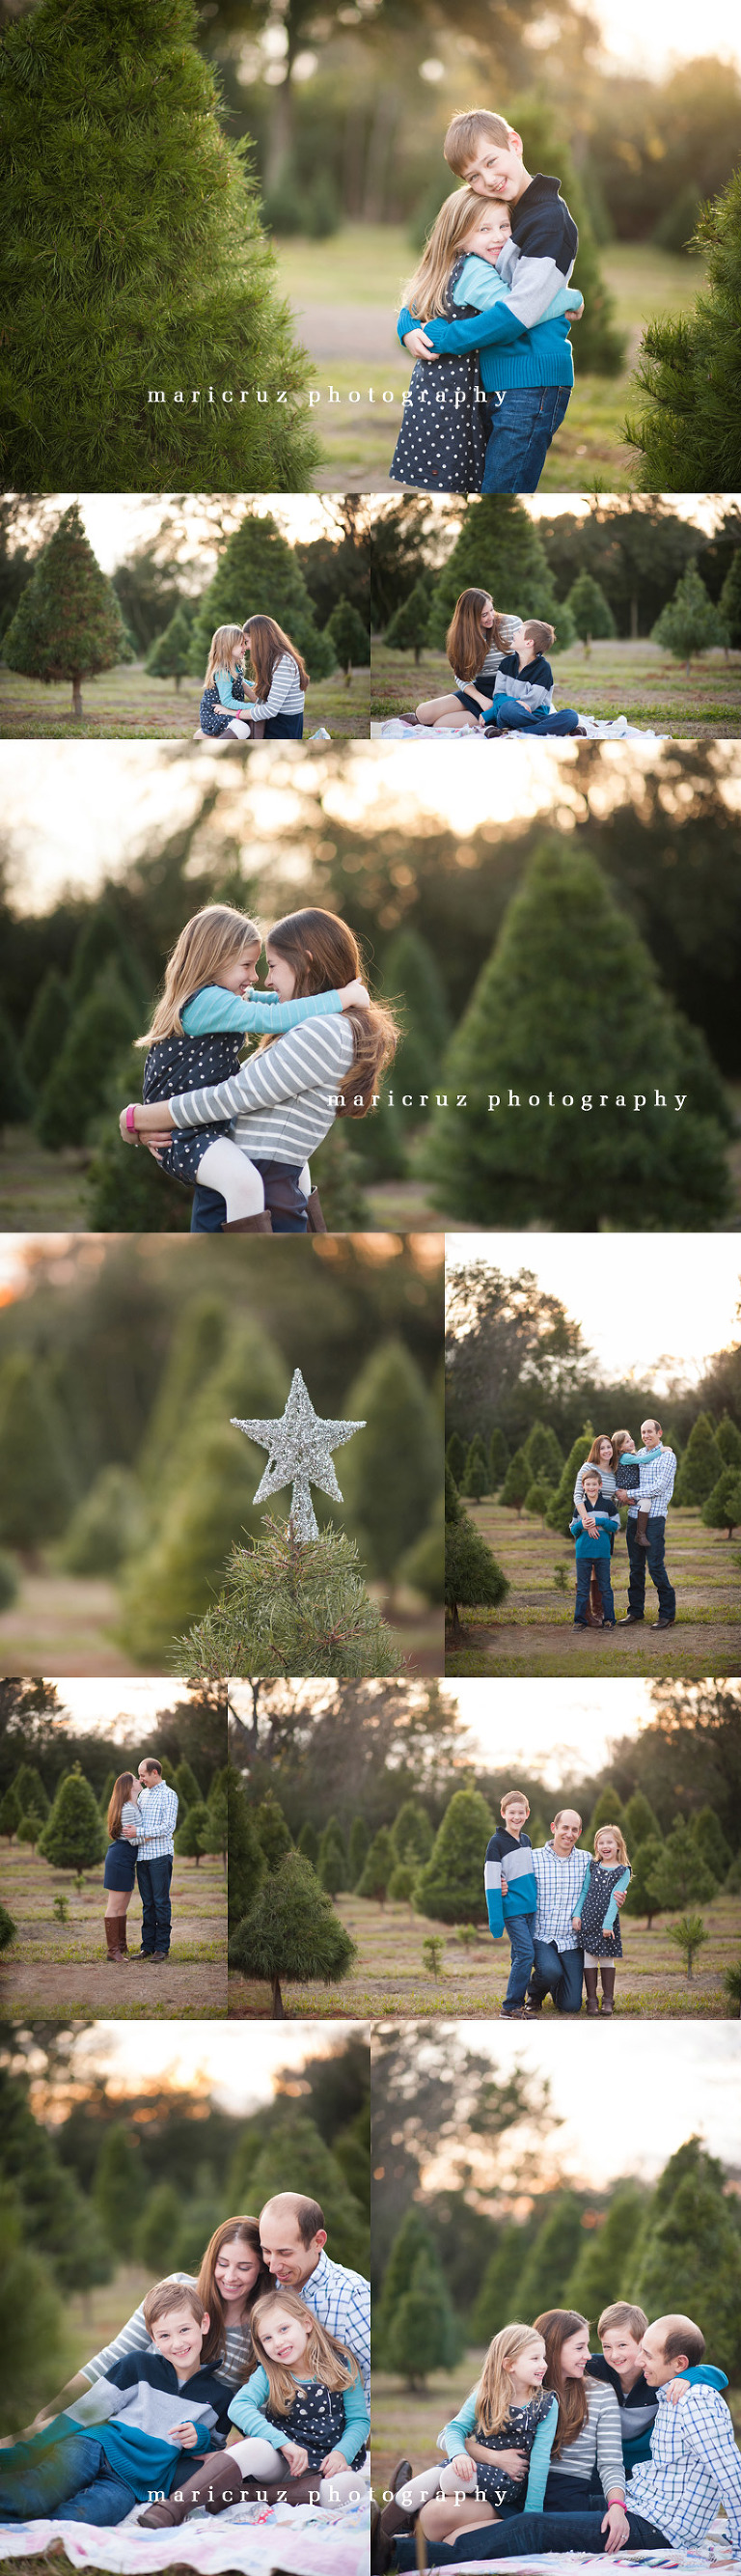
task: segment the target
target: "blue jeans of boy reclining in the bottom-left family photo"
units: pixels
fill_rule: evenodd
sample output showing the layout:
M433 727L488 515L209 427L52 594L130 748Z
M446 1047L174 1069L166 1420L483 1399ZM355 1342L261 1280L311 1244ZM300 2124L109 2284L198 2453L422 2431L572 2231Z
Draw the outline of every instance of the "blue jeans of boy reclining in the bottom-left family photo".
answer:
M103 2445L87 2432L62 2439L15 2442L0 2452L0 2522L124 2522L136 2504L134 2488L108 2468ZM36 2458L33 2458L36 2452Z

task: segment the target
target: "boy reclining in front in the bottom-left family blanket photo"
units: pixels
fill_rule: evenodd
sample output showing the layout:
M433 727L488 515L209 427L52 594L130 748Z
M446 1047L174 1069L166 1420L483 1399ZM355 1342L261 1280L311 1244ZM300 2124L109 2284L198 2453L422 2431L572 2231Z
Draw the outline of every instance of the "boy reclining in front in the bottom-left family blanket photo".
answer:
M113 2362L75 2409L15 2445L18 2460L3 2455L0 2519L124 2522L136 2499L167 2496L193 2452L224 2447L232 2388L201 2362L211 2318L198 2290L160 2280L144 2324L154 2349Z

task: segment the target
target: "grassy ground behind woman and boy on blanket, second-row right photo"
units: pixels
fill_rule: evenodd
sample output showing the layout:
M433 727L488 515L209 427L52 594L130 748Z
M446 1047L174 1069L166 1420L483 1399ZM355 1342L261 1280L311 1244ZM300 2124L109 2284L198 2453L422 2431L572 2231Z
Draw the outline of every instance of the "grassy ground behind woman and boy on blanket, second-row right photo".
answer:
M443 698L450 690L450 665L443 652L414 654L391 652L373 639L370 649L370 721L399 716L422 698ZM569 644L556 657L556 706L576 706L594 719L628 716L697 742L705 734L741 732L741 652L710 652L702 662L672 662L672 654L651 644L623 639L612 644Z

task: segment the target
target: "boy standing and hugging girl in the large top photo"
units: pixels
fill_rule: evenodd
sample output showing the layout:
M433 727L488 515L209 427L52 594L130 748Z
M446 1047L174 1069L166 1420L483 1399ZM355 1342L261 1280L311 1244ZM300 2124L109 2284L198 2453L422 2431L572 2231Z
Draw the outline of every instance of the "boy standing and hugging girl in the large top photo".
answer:
M404 332L401 314L399 337L414 358L430 358L435 350L479 350L491 415L481 489L538 492L574 384L569 314L551 322L543 322L543 314L558 289L569 286L579 232L558 193L558 178L543 173L533 178L525 170L522 137L504 116L491 116L489 108L453 116L443 149L448 167L473 188L473 196L509 206L512 250L504 247L499 276L512 281L512 294L491 312L461 322L435 319L425 330Z

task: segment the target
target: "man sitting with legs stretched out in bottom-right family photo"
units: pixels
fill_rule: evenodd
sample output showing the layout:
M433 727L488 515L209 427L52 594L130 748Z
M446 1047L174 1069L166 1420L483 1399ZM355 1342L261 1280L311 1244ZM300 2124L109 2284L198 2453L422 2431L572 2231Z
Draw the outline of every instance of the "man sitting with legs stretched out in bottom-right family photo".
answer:
M733 2558L741 2558L741 2452L733 2442L728 2406L715 2388L692 2383L679 2406L666 2398L666 2383L677 2378L677 2370L702 2362L702 2352L705 2334L692 2324L692 2316L659 2316L656 2326L646 2326L641 2360L648 2388L659 2388L659 2411L651 2460L633 2468L625 2496L628 2550L697 2550L708 2540L718 2504L726 2504L726 2537ZM594 2550L602 2555L610 2540L605 2522L599 2506L594 2514L515 2514L512 2522L484 2522L479 2530L461 2532L453 2548L427 2543L430 2566L525 2558L527 2550L543 2555L548 2550ZM396 2553L399 2568L414 2566L414 2543L396 2543ZM373 2576L386 2566L391 2566L391 2550L383 2550L376 2522Z

